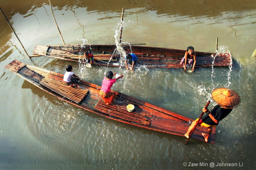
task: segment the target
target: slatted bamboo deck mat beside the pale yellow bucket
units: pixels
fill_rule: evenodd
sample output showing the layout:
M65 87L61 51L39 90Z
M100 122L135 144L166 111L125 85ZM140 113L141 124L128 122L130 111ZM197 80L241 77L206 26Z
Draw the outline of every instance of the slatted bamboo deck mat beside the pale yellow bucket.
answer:
M145 114L140 114L140 111L136 111L136 108L133 110L133 112L128 112L124 105L106 105L102 99L100 99L93 110L105 113L107 115L115 116L126 121L145 125L150 124L150 117L146 116Z

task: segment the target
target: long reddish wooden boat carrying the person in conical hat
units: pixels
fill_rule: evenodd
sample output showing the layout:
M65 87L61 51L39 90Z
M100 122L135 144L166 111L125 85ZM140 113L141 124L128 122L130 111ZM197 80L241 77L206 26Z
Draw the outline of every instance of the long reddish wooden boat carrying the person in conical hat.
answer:
M105 105L101 99L100 86L86 81L80 81L77 87L70 87L63 82L63 74L28 65L17 60L5 66L28 82L48 92L60 100L64 100L92 113L119 122L156 130L168 134L178 135L187 139L184 134L189 127L188 117L179 115L164 108L118 93L113 105ZM117 93L117 92L116 92ZM128 112L126 106L133 104L133 112ZM198 126L191 138L205 142L202 133L206 129ZM209 137L209 143L215 143L215 131Z

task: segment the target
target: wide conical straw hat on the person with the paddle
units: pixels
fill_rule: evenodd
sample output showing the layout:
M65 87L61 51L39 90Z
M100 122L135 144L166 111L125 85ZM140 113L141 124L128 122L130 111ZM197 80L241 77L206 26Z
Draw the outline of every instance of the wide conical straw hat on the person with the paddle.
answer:
M239 106L240 96L228 88L218 88L212 91L212 99L223 108L236 108Z

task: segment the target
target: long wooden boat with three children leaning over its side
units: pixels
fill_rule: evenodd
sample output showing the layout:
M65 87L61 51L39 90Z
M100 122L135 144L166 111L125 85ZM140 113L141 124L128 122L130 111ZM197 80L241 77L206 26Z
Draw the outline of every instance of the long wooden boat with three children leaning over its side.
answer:
M125 53L134 53L138 57L138 64L148 68L182 68L181 59L186 50L171 48L155 48L143 46L122 46ZM83 62L85 51L94 55L93 64L122 67L124 57L116 50L116 45L36 45L32 56L48 56L63 60ZM196 52L195 67L230 66L230 53L216 54ZM122 53L121 53L122 54Z

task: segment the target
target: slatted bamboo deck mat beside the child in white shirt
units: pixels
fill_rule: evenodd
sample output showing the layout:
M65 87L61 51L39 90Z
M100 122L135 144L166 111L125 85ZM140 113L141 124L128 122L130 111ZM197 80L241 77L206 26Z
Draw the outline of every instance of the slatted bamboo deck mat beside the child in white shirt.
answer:
M43 78L39 83L51 89L53 92L56 92L76 103L80 103L88 93L88 90L86 89L70 87L69 85L66 85L65 82L57 81L51 78Z

